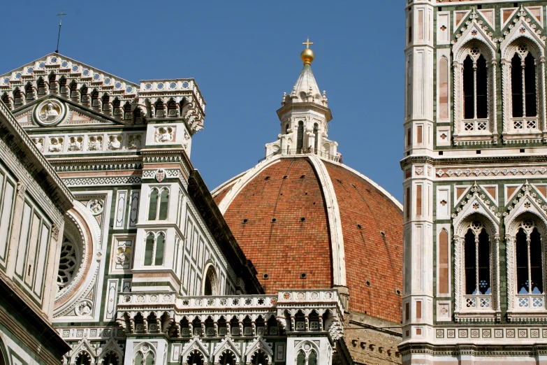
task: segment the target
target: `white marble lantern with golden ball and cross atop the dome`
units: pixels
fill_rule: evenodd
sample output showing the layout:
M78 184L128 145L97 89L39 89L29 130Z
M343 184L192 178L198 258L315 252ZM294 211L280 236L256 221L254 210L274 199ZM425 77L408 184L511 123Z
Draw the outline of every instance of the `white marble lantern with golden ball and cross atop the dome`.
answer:
M277 110L281 131L277 141L266 145L266 157L272 155L297 155L314 153L326 158L337 155L338 143L329 141L328 122L333 115L328 108L326 92L321 91L312 72L313 42L302 43L305 50L300 53L304 64L291 94L283 94L281 108Z

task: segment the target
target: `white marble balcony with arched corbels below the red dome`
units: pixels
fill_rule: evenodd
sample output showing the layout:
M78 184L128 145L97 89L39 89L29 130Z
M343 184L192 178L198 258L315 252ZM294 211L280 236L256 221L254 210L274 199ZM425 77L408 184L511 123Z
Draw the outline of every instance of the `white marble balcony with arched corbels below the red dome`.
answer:
M175 292L119 294L117 322L126 334L278 336L300 331L342 336L337 289L291 289L277 295L180 296Z

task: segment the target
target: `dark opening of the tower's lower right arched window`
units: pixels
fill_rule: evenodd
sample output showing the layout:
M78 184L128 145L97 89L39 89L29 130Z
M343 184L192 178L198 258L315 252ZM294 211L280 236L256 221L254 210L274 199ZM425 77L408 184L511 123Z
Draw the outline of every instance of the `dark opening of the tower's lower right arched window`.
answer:
M518 294L543 294L541 236L532 220L525 220L516 234L516 279Z

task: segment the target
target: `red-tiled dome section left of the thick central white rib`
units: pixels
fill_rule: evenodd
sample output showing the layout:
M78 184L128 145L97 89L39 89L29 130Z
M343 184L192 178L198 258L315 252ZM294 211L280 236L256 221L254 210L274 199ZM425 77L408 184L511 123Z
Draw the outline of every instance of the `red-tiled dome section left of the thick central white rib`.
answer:
M328 217L319 180L307 159L282 159L265 166L235 196L224 218L256 267L265 292L332 287ZM248 221L242 224L244 219ZM265 273L268 279L263 278Z

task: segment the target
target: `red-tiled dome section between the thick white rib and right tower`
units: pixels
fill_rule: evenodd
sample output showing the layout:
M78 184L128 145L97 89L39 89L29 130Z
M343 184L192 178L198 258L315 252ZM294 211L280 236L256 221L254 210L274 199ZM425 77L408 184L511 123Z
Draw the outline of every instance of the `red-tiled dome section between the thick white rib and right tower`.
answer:
M364 178L323 163L340 209L349 309L400 323L402 298L396 290L402 289L402 211Z

